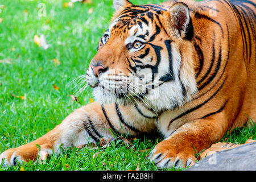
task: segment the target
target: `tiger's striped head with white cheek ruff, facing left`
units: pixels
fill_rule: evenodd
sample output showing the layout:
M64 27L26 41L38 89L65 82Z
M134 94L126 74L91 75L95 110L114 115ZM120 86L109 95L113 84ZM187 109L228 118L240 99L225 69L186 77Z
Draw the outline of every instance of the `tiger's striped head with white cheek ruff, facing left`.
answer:
M183 105L197 91L188 6L113 3L112 23L86 72L96 100L158 110Z

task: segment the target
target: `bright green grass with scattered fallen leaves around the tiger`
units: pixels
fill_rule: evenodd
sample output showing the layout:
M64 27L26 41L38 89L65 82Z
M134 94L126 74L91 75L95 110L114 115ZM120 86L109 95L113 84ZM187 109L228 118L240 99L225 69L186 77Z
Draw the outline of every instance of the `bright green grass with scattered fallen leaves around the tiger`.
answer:
M112 1L75 3L73 8L63 8L64 2L67 1L0 1L0 5L5 5L0 13L0 18L3 18L0 23L0 60L10 62L0 63L0 153L41 137L92 98L88 89L80 96L80 103L73 102L70 94L76 89L68 83L85 73L96 53L98 40L114 11ZM46 5L46 16L38 16L40 3ZM93 9L91 14L88 14L89 9ZM42 34L51 45L47 50L38 47L33 40L34 35ZM61 64L54 64L53 59L59 59ZM228 141L244 143L251 136L255 139L255 130L255 126L236 130L228 135ZM145 160L150 150L143 151L153 148L158 139L135 139L132 143L136 151L127 149L122 140L115 140L105 149L68 148L61 150L60 155L49 156L44 164L28 162L23 168L127 170L136 169L139 164L141 170L158 169ZM99 154L93 158L96 152ZM7 169L19 170L20 165ZM6 168L0 166L0 170Z

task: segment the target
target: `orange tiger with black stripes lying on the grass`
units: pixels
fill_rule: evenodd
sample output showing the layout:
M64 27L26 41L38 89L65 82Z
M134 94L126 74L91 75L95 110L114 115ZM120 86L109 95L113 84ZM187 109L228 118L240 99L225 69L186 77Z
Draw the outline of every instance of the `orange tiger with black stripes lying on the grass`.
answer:
M196 151L254 123L255 0L113 6L85 75L95 101L43 137L4 151L3 166L57 154L60 146L157 130L164 139L145 160L185 168L196 163Z

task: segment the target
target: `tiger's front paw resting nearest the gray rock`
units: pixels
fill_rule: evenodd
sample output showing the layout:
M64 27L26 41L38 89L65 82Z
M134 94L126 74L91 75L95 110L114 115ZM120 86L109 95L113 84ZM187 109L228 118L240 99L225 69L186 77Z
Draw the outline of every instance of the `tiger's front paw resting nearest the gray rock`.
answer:
M196 162L193 148L177 146L168 140L158 143L149 158L159 168L187 168Z

